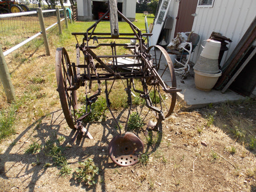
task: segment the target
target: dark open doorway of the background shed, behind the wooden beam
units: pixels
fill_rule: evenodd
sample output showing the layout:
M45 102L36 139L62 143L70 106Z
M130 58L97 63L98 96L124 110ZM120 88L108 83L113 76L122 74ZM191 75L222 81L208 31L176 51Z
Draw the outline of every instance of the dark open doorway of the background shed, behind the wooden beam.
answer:
M117 9L122 13L122 3L117 3ZM92 14L94 20L98 20L107 10L108 4L106 2L93 1ZM118 17L118 19L121 20L121 17ZM109 17L105 17L104 20L109 20Z

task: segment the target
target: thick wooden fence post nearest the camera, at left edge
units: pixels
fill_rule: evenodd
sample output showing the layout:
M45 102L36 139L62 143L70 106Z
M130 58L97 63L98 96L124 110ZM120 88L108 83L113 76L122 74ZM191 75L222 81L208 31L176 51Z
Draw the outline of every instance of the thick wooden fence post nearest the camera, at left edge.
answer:
M8 102L16 101L15 92L11 77L9 74L9 69L6 64L5 56L2 50L2 45L0 44L0 79L2 80L3 87Z

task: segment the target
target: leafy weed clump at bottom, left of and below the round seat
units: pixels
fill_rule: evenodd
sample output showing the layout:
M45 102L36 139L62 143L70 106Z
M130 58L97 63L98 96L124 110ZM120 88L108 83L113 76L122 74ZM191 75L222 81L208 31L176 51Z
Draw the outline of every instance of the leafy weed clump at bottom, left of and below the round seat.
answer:
M99 174L99 168L94 164L91 158L84 162L78 162L79 167L73 173L73 178L77 183L84 182L86 185L96 184L96 175Z

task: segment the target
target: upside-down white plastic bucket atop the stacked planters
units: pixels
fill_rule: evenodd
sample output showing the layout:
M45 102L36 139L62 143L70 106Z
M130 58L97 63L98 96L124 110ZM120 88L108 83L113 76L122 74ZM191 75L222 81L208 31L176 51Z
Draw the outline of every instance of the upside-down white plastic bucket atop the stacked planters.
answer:
M217 40L206 40L206 44L203 48L204 49L200 54L202 57L209 59L218 59L221 49L221 42Z

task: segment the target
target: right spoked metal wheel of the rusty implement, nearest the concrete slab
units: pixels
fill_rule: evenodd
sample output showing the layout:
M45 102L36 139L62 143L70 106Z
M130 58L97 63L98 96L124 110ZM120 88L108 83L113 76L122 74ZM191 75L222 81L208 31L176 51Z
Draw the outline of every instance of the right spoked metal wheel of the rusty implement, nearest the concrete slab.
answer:
M151 61L155 67L154 71L157 71L158 75L156 78L151 79L148 84L148 92L153 106L160 109L165 118L170 116L174 111L177 93L164 91L165 85L167 88L176 88L176 77L173 67L172 60L168 53L161 46L151 46L148 48L150 53Z

